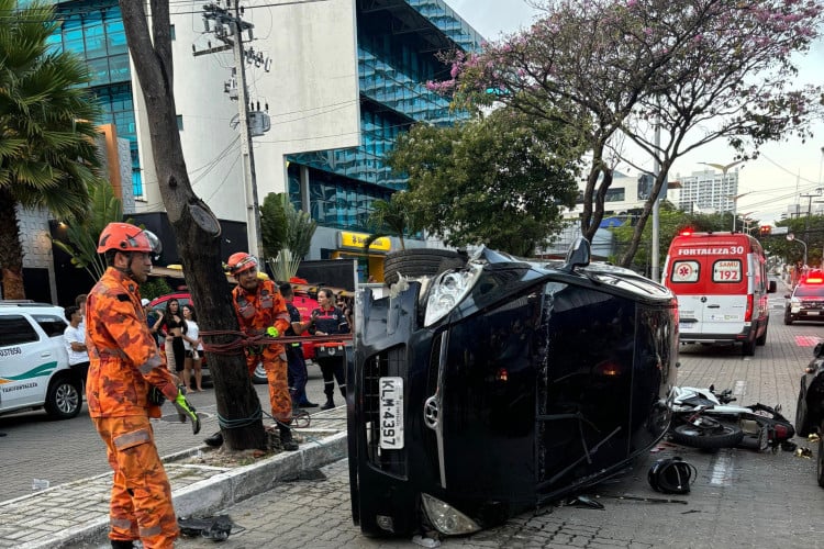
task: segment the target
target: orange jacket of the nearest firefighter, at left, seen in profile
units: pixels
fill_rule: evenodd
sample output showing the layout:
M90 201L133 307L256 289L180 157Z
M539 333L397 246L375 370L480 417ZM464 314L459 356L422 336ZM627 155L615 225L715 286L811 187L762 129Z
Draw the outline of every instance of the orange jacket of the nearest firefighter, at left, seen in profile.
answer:
M90 359L86 399L91 417L159 417L159 406L147 401L149 384L169 400L177 396L175 378L148 330L137 284L111 267L89 293L86 345Z

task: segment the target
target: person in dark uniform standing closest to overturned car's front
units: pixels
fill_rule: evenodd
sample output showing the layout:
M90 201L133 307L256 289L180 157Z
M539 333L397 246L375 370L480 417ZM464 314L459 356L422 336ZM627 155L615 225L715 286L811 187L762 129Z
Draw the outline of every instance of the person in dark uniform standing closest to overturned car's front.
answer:
M329 288L318 290L318 304L320 306L312 311L312 323L309 327L310 334L326 336L349 333L349 324L346 322L346 315L334 305L334 293ZM341 394L346 399L345 355L343 352L335 352L331 356L329 354L324 356L323 351L320 350L322 347L334 347L319 344L315 346L314 357L315 362L321 367L323 392L326 395L326 403L321 406L321 410L330 410L335 407L335 379L337 380L337 386L341 389Z

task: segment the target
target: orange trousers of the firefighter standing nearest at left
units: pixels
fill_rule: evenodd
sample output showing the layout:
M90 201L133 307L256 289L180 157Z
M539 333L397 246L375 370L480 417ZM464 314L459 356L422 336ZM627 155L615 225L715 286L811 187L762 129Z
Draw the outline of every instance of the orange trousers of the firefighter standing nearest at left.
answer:
M92 417L92 422L114 471L109 538L141 539L147 549L172 547L179 528L171 486L148 417Z

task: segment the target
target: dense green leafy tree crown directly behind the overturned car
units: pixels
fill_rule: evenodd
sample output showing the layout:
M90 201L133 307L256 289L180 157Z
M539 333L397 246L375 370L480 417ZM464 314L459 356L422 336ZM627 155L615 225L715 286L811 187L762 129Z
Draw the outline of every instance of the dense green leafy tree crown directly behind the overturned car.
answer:
M574 204L581 153L563 126L499 109L450 127L417 124L388 163L409 175L397 200L422 228L452 246L528 256Z

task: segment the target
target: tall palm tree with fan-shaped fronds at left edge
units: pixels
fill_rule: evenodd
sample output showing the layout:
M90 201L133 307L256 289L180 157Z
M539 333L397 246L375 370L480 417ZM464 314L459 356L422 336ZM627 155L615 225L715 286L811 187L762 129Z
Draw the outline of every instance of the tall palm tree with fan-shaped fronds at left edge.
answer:
M49 51L54 8L0 0L0 267L3 295L23 299L23 248L16 205L80 216L98 179L94 121L86 64Z

